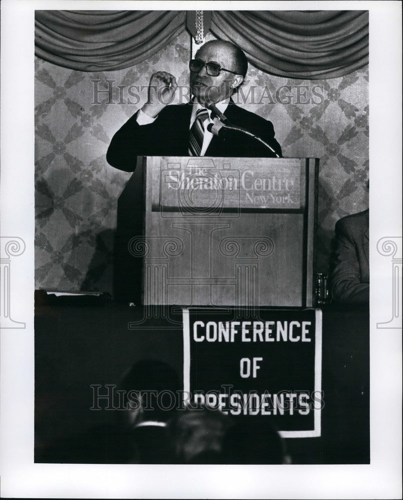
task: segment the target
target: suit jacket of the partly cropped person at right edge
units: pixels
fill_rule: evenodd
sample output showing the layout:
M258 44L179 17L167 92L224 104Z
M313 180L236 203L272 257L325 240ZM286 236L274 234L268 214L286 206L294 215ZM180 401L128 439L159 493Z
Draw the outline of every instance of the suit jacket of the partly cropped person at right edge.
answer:
M331 276L332 297L341 303L369 303L370 212L355 213L336 222L336 251Z

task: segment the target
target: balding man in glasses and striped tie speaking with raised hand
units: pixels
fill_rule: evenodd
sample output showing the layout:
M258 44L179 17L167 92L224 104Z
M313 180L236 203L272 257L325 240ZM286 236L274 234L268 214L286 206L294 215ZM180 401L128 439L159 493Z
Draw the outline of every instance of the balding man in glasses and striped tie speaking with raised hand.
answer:
M239 47L228 41L209 41L197 51L189 68L192 102L168 105L178 86L175 76L166 71L154 73L147 102L111 140L106 155L109 164L130 172L137 156L281 157L271 121L231 99L248 69ZM223 127L223 122L246 132Z

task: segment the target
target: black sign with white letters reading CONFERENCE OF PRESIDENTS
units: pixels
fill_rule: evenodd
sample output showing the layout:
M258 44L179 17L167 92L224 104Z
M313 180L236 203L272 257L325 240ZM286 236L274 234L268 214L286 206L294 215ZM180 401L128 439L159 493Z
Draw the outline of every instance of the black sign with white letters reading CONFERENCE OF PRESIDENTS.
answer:
M321 435L322 311L183 310L184 391L273 424L283 437Z

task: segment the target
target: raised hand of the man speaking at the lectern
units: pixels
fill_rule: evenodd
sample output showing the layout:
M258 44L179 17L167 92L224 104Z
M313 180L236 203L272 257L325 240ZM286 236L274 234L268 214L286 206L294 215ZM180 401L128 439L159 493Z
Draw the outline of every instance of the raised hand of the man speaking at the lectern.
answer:
M170 104L178 88L175 76L166 71L157 71L151 75L148 85L148 100L142 111L155 118L167 104Z

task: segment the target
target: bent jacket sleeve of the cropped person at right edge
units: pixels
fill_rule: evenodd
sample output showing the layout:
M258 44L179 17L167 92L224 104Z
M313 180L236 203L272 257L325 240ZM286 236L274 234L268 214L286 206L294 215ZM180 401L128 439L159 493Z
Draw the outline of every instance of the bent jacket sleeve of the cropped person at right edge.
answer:
M344 220L335 227L336 250L331 276L332 298L339 303L364 304L370 301L370 284L360 280L356 247Z

